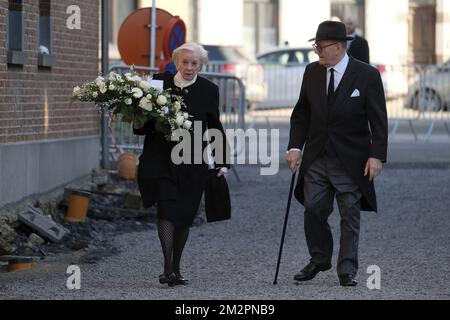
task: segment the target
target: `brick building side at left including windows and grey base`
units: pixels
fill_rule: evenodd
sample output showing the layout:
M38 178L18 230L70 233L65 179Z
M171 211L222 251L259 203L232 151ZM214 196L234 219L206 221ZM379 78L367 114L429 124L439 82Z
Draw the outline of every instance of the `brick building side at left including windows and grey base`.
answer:
M0 0L0 208L98 166L100 117L70 102L98 57L98 1Z

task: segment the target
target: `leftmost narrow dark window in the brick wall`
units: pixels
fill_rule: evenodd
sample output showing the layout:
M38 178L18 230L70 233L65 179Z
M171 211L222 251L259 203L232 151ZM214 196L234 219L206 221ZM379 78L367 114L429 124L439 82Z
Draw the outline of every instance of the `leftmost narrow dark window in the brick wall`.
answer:
M23 52L22 1L8 1L8 65L24 65L27 55Z

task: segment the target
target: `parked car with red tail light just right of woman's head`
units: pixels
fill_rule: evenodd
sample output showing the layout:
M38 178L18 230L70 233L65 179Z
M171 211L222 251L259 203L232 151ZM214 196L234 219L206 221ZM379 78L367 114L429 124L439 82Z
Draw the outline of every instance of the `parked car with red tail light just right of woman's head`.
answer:
M249 108L264 101L267 97L267 84L264 81L264 69L256 60L245 55L233 46L203 45L208 51L206 72L230 73L241 78Z

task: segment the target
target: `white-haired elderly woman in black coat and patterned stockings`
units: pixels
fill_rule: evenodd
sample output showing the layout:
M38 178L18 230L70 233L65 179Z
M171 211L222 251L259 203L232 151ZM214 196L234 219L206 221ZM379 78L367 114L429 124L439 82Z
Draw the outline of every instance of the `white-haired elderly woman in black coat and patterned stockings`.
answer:
M174 94L183 97L193 127L201 124L201 135L190 132L191 152L183 150L189 152L191 163L174 163L171 154L177 142L166 140L155 130L154 122L148 121L134 130L135 134L146 136L139 158L138 185L144 206L157 205L158 235L164 255L164 273L159 276L159 282L169 286L188 283L181 275L180 260L208 176L208 163L203 159L206 142L194 141L194 138L200 136L201 139L207 128L219 130L223 135L224 157L214 159L217 175L224 175L228 167L225 161L228 159L227 143L219 120L219 89L197 74L208 62L207 51L196 43L185 43L174 50L172 57L177 73L155 74L153 79L163 80L164 89L171 88ZM198 152L195 143L202 145L200 163L193 162L194 158L199 158L195 155Z

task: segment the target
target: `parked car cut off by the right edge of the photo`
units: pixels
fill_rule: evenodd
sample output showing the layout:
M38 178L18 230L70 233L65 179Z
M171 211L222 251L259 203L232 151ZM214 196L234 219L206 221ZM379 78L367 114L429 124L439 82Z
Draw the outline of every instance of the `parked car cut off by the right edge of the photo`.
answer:
M450 60L428 66L408 88L405 107L420 111L449 110Z

